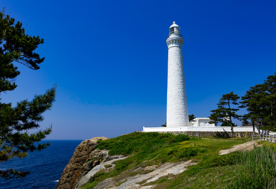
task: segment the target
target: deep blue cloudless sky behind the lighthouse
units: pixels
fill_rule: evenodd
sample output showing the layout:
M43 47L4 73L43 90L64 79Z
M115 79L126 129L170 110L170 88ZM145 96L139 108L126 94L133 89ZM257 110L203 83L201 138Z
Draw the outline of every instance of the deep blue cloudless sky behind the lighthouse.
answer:
M117 137L166 122L166 38L184 38L189 114L210 116L222 94L242 96L276 72L276 1L1 1L26 33L44 38L45 61L17 65L16 90L32 99L57 83L41 128L47 139Z

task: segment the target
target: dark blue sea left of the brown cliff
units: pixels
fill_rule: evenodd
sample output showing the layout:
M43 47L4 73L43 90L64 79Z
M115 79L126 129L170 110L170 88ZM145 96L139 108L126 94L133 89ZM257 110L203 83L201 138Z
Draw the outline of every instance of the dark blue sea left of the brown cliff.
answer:
M25 178L0 178L0 188L5 189L48 189L55 188L63 169L68 164L75 148L81 141L49 140L51 146L41 151L29 152L25 158L14 158L0 164L0 169L14 168L30 171Z

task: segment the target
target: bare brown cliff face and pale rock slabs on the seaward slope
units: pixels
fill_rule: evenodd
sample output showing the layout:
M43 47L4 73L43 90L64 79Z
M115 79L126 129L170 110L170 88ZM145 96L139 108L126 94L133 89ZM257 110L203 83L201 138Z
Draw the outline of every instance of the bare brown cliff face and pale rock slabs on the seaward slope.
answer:
M106 140L107 138L96 137L81 142L63 170L56 189L79 189L96 173L112 171L115 166L114 161L127 158L123 155L109 156L108 150L95 149L99 139ZM188 166L195 164L197 163L188 160L159 165L136 166L123 172L123 174L125 173L124 176L107 178L99 182L94 188L151 188L155 185L144 184L150 184L150 182L156 181L160 177L170 177L170 175L182 173L187 170Z

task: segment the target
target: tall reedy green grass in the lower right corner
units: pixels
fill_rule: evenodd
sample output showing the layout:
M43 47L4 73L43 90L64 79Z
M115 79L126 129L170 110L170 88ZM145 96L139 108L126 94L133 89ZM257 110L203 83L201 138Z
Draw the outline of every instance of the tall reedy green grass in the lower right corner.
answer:
M276 153L273 146L239 152L235 167L237 177L228 188L276 188Z

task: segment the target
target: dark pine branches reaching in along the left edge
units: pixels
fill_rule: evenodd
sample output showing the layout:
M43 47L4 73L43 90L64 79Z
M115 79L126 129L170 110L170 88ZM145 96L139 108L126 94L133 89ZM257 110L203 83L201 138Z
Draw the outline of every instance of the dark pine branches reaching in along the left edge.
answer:
M14 90L16 77L20 74L13 63L20 63L33 70L44 58L34 52L43 39L25 34L22 23L0 13L0 95ZM27 152L42 150L49 143L38 143L52 131L52 125L44 130L29 133L29 129L40 127L42 113L51 109L55 100L56 85L43 95L35 95L31 101L22 100L12 107L11 103L2 103L0 99L0 163L11 158L26 157ZM13 169L1 170L0 177L25 177L29 172Z

